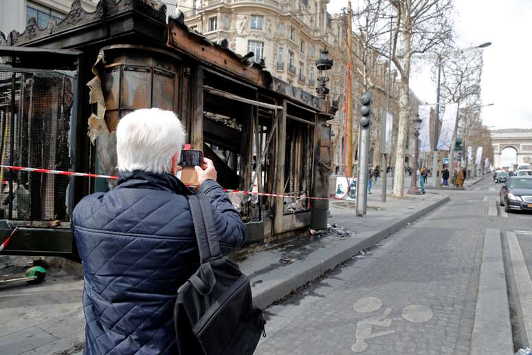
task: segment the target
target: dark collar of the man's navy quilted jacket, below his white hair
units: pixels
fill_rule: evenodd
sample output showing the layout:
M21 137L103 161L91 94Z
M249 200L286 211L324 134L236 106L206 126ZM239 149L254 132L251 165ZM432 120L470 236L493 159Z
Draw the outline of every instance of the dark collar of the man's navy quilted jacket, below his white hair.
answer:
M192 195L192 192L172 174L152 173L150 171L133 170L118 173L118 186L137 189L168 190L179 195Z

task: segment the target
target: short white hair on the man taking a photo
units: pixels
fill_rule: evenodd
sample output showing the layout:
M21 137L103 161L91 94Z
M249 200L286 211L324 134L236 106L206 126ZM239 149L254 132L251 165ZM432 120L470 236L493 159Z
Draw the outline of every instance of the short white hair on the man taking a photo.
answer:
M185 136L172 111L137 109L126 114L116 129L118 170L170 173L175 153L179 162Z

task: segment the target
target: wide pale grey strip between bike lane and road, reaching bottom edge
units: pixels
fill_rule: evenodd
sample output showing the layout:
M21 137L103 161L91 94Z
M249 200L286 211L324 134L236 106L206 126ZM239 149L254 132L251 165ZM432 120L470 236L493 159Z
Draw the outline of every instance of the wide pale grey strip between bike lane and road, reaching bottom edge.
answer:
M487 228L478 278L471 355L512 354L510 310L500 230Z

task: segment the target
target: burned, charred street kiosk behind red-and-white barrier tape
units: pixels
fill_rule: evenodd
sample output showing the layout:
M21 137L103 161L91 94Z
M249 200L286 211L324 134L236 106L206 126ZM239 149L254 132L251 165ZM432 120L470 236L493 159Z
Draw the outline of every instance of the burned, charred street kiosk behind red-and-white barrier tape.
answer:
M303 92L190 31L182 14L167 24L150 0L102 0L91 13L74 1L60 23L0 33L0 56L1 165L116 175L120 118L160 107L184 122L225 189L259 193L230 193L250 241L326 226L337 109L326 78L320 97ZM320 61L330 68L326 51ZM115 184L6 169L1 181L0 243L19 227L3 252L34 255L76 255L72 208Z

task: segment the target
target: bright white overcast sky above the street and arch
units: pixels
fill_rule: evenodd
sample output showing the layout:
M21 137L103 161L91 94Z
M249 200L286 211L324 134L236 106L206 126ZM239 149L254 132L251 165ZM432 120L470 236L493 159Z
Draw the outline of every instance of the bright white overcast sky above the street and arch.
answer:
M355 3L356 0L353 1ZM454 28L461 47L484 42L482 78L484 124L491 129L532 128L532 0L454 0ZM340 12L347 0L331 0ZM436 102L430 67L412 74L410 87L428 103Z

